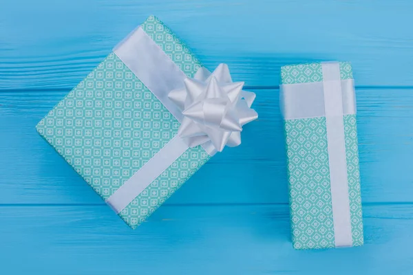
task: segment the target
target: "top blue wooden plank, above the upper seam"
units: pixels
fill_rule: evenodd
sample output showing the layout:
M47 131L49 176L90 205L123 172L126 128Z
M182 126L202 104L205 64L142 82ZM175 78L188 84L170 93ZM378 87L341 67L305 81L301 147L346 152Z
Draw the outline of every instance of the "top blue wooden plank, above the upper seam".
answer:
M149 14L213 69L279 84L289 63L351 61L358 85L413 85L412 1L4 0L0 89L70 88ZM17 16L19 14L19 16Z

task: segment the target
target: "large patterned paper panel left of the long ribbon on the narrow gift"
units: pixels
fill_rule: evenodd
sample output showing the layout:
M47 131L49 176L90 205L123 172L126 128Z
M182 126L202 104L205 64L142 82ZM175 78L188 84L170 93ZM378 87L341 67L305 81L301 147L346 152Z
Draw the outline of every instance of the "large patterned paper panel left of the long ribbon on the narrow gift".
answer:
M284 125L294 248L334 248L326 118Z

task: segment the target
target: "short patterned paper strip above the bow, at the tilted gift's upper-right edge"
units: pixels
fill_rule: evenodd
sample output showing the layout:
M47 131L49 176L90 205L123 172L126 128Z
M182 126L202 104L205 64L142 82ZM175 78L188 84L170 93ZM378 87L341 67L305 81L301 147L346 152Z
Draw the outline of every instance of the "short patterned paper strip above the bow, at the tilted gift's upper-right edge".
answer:
M184 74L192 78L202 67L198 58L191 54L188 47L158 18L151 15L141 26Z

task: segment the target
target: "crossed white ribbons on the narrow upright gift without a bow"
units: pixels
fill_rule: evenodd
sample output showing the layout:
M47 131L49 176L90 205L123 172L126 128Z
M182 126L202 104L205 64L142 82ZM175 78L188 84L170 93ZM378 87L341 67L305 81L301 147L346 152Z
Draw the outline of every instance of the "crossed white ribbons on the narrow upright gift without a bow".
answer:
M356 113L353 80L341 80L339 63L321 63L323 82L282 85L284 119L326 117L335 246L352 245L343 115Z

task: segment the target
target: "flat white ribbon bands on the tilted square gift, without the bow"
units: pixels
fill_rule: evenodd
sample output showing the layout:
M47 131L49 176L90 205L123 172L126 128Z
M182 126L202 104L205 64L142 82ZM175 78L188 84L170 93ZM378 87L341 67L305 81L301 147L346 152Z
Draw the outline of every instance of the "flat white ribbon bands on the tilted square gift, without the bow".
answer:
M168 98L173 89L184 87L185 74L173 63L171 58L142 30L137 28L127 39L114 49L114 54L133 72L140 81L158 98L169 112L182 122L180 109ZM211 142L202 144L209 155L216 153ZM120 186L106 202L119 213L149 184L162 174L180 157L189 146L176 135L162 147L149 162L143 165L131 178Z

